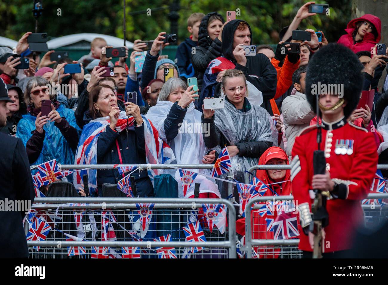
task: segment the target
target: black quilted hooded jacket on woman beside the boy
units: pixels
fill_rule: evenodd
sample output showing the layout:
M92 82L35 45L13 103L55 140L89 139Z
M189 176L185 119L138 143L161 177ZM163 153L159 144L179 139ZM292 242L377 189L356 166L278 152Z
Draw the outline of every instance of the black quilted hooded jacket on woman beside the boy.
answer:
M203 74L209 65L211 60L221 56L221 41L215 38L212 41L208 35L208 22L209 18L213 15L217 15L224 22L223 17L217 12L211 12L203 17L198 31L198 46L196 47L195 54L191 55L191 63L194 67L194 77L197 78L199 92L201 92Z

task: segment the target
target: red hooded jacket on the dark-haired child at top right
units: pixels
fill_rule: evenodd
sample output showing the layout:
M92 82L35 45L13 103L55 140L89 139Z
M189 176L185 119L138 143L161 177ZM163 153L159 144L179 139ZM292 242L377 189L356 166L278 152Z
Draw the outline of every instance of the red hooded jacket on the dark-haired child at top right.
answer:
M357 23L361 21L371 22L376 28L378 36L375 38L373 33L366 33L362 41L359 41L358 43L354 44L352 36L353 31L357 28ZM348 22L348 26L346 26L345 31L346 35L341 36L337 43L345 45L345 47L350 48L354 53L360 52L362 50L371 51L371 48L373 48L376 43L380 41L381 38L381 20L379 19L379 17L376 17L374 15L365 14L362 17L353 19L352 21Z

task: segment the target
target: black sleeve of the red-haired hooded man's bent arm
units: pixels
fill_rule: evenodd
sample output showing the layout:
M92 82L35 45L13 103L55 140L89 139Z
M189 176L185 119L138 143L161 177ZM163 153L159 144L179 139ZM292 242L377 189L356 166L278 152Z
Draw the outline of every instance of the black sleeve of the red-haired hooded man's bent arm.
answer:
M275 67L264 54L256 54L255 57L248 60L252 60L252 62L249 62L249 66L252 66L251 68L242 66L241 64L236 64L235 68L244 72L246 79L263 93L263 100L274 98L277 84ZM259 74L255 70L250 70L253 68L258 69L260 71ZM249 74L257 75L258 77L249 76Z

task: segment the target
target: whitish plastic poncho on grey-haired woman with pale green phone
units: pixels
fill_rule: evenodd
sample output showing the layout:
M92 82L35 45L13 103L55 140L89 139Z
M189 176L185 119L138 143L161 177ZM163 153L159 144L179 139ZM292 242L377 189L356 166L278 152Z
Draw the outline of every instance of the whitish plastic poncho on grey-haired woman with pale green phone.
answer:
M167 142L164 123L174 103L170 101L159 101L155 106L152 106L145 117L149 119L159 132L159 137ZM203 128L201 125L202 113L194 108L194 103L191 103L187 108L184 120L178 135L171 141L167 142L175 154L177 164L203 164L202 159L208 152L208 148L203 140ZM189 169L190 170L190 169ZM210 169L191 169L197 173L210 174ZM178 182L179 197L184 197L182 182L180 180L179 171L172 171L170 173ZM215 193L221 197L218 192L218 187L211 178L206 178L202 175L197 175L189 188L185 197L194 195L195 183L201 183L199 188L200 193Z

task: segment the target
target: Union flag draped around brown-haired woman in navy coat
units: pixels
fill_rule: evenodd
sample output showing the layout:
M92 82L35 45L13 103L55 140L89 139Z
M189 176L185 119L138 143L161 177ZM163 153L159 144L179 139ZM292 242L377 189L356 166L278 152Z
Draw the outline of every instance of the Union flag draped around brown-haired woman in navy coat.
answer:
M144 140L145 140L145 156L149 164L170 164L175 160L175 156L171 148L163 142L158 136L158 131L152 125L151 121L142 116L144 121ZM117 120L115 130L121 132L128 128L133 129L133 117L125 115L125 111L121 111ZM97 139L99 135L109 127L109 117L97 118L90 121L83 127L80 141L78 143L75 164L96 164L97 163ZM87 173L88 172L88 173ZM161 174L161 169L151 169L148 174L153 182L153 177ZM82 175L88 174L89 190L94 193L97 188L97 170L88 169L76 171L74 173L74 186L81 187Z

